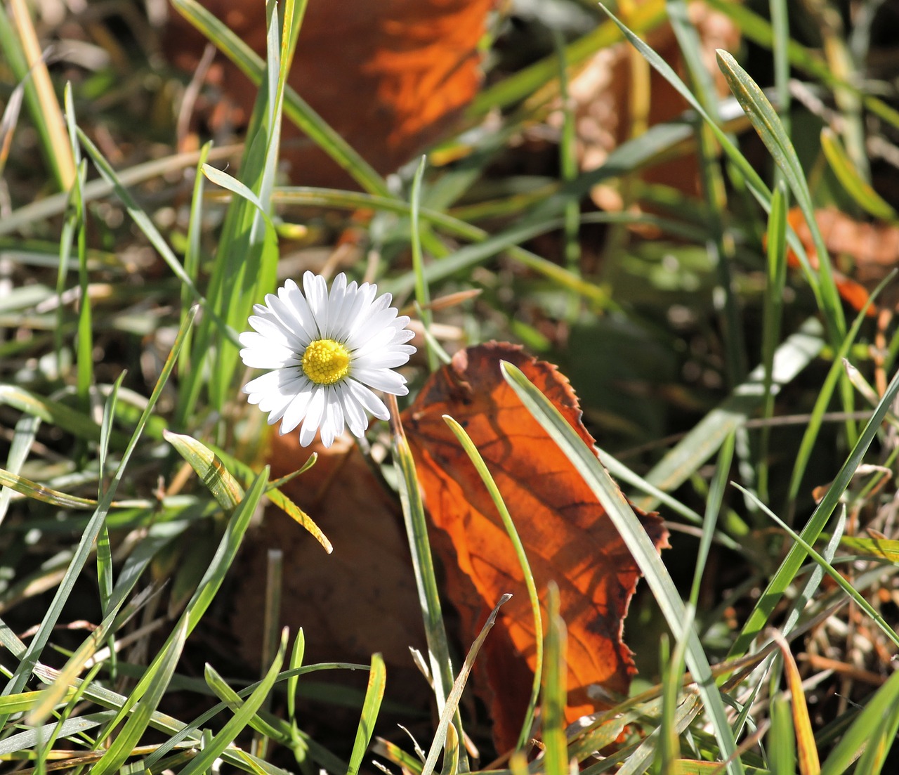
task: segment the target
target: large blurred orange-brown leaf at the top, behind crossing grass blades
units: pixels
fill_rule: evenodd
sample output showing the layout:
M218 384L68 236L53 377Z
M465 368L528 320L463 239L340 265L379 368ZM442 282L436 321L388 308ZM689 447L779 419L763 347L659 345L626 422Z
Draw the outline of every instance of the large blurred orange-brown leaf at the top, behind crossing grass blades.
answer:
M495 0L309 0L289 83L366 161L392 172L451 126L480 85L479 40ZM257 52L264 4L202 0ZM205 40L174 18L167 49L187 71ZM214 74L241 123L256 90L221 61ZM284 123L282 156L294 183L336 185L345 174Z

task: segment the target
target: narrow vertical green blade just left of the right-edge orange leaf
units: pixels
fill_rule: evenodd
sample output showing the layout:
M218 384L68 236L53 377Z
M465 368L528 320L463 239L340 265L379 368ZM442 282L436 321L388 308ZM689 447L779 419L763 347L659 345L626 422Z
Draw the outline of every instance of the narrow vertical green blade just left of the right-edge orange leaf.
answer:
M763 392L764 404L761 416L770 420L774 415L774 352L780 341L780 327L783 317L783 290L787 283L787 188L778 183L771 197L768 216L767 273L765 276L765 298L761 313L761 365L765 370ZM756 469L756 486L762 501L768 497L768 459L770 454L769 424L762 425L759 439L759 457Z

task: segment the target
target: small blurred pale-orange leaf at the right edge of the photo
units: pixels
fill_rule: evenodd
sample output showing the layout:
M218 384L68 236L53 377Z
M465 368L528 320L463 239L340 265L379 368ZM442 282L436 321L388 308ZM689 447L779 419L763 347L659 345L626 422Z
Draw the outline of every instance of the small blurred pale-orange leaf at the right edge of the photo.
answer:
M802 209L792 208L787 216L799 241L806 249L808 262L813 269L820 265L814 248L812 231L806 223ZM833 270L833 280L842 299L855 310L868 303L868 288L886 277L899 264L899 227L888 224L864 223L850 218L836 208L814 211L814 219L821 230L824 246L832 255L846 255L852 260L852 277ZM798 267L799 258L792 250L787 252L787 262ZM881 299L881 304L883 299ZM868 307L868 316L877 315L877 306Z

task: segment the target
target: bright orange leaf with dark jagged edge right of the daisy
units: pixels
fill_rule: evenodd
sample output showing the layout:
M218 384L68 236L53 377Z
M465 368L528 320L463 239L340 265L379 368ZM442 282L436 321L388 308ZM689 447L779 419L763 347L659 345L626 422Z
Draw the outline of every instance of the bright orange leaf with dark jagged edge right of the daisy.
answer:
M465 641L476 637L503 592L514 595L479 656L479 669L493 690L488 706L500 751L515 744L527 708L533 619L512 542L441 415L461 423L484 457L521 536L539 592L545 592L550 580L559 585L568 628L569 721L603 707L591 697L592 684L628 691L635 668L621 634L639 576L583 478L506 384L503 360L524 371L592 446L568 380L555 366L506 343L458 352L403 414L428 511L452 545L443 548L447 596L459 611ZM666 546L662 521L639 513L655 546ZM439 541L435 548L441 549Z

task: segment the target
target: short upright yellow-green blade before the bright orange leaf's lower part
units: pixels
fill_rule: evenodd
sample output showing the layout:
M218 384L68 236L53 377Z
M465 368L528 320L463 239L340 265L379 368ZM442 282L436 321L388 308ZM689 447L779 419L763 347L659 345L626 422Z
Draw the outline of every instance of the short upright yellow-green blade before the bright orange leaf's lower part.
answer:
M565 739L565 706L568 704L568 633L559 613L556 583L547 584L546 664L543 671L543 771L568 775L568 741Z

